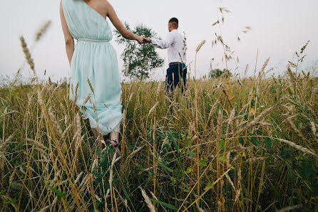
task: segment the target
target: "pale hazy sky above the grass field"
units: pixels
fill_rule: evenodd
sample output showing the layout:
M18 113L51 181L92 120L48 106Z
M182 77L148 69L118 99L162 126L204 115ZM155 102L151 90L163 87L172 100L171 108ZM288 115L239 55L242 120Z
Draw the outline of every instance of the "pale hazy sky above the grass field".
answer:
M305 65L318 59L318 1L317 0L161 0L161 1L115 1L109 0L115 8L120 20L130 25L145 23L164 38L168 33L167 22L175 16L179 19L179 31L185 31L188 42L188 63L195 58L195 48L202 40L205 46L198 53L198 75L208 73L211 58L215 58L214 68L225 68L222 63L222 49L212 48L214 33L220 32L218 27L212 27L217 21L217 8L226 7L232 14L225 16L222 24L222 36L228 46L235 51L235 57L240 58L238 73L250 64L250 75L255 66L257 49L260 69L266 58L270 57L269 68L275 68L272 73L283 73L288 60L292 60L295 51L308 40L311 42L305 53ZM0 75L13 75L24 63L19 36L23 35L30 46L34 35L41 24L51 20L51 27L46 35L36 44L32 57L36 64L36 72L43 76L44 70L53 80L68 78L69 65L63 43L63 32L59 18L59 1L57 0L11 0L2 1L0 7ZM109 21L109 20L108 20ZM110 22L110 21L109 21ZM111 23L111 22L110 22ZM112 25L111 25L112 26ZM251 26L247 34L241 31L245 26ZM112 26L113 27L113 26ZM241 43L236 37L240 36ZM122 69L120 53L123 47L115 46L119 70ZM160 56L167 61L165 50L158 49ZM163 80L165 70L155 70L153 79ZM29 75L29 69L24 66L23 75ZM230 63L230 68L234 65ZM193 75L194 63L190 73ZM121 78L123 80L123 77Z

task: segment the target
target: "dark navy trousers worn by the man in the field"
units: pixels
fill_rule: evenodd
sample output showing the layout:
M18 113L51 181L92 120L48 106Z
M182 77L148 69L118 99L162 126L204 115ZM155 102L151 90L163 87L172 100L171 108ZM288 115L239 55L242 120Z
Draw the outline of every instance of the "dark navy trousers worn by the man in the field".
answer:
M165 89L168 97L173 98L173 90L176 86L181 88L181 92L185 90L187 83L187 68L184 63L170 65L165 75Z

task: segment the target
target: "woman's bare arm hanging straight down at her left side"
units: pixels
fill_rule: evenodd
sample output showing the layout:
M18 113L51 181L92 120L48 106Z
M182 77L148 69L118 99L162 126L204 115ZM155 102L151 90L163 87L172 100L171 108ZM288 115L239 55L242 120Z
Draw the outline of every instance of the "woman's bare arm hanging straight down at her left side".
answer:
M72 37L70 31L68 30L68 26L67 26L65 16L63 13L62 1L60 3L60 16L61 16L62 29L64 33L64 39L65 39L66 54L68 57L68 62L71 65L71 60L72 60L73 52L74 52L74 38Z

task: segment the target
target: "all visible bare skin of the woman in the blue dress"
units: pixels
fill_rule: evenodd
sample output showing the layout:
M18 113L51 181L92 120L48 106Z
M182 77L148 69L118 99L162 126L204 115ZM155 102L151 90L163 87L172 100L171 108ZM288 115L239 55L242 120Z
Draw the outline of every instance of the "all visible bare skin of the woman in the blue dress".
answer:
M131 31L128 31L125 26L123 26L123 23L119 20L116 11L113 9L113 6L107 1L107 0L84 0L85 3L88 6L91 6L92 9L94 9L98 14L101 14L104 18L109 18L111 20L111 23L113 23L113 26L117 28L121 36L128 40L135 40L138 41L138 43L147 43L145 42L145 38L141 36L137 36ZM68 57L68 62L71 65L71 60L73 57L74 52L74 38L71 36L70 31L68 30L68 26L66 23L65 16L63 14L63 7L62 7L62 1L60 2L60 16L61 16L61 24L65 39L65 47L66 47L66 54ZM98 132L96 129L92 129L93 134L98 137ZM119 141L119 132L111 132L110 133L111 140ZM111 141L113 145L116 143ZM120 150L118 147L116 148L116 151L120 154Z

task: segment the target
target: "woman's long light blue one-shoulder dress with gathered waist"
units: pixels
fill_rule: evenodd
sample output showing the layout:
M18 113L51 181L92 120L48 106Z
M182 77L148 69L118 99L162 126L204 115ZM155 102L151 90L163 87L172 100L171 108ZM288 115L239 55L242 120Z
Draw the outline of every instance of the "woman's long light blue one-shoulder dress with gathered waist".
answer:
M75 92L78 83L76 105L91 128L102 135L119 132L123 118L120 100L121 85L116 51L109 41L113 38L106 18L98 14L83 0L62 0L63 14L68 30L78 40L71 60L71 85ZM88 85L91 81L94 93ZM88 94L91 102L83 105ZM70 100L75 93L70 89ZM96 113L93 110L96 105Z

